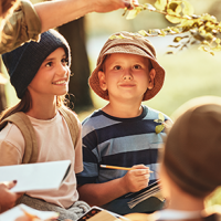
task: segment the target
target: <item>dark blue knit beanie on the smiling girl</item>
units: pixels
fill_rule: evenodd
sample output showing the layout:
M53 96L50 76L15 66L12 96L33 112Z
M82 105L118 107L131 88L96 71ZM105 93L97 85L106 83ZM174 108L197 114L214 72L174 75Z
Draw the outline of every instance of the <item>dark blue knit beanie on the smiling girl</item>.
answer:
M40 42L28 42L22 46L2 54L3 63L10 75L17 96L22 98L24 92L43 61L56 49L63 48L71 65L71 52L66 40L55 30L41 34Z

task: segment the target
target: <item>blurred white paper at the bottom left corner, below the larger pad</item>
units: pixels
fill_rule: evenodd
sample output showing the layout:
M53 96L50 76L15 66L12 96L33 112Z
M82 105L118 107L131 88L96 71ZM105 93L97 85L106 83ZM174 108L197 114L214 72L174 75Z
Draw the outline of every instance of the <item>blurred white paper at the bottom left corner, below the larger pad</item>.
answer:
M52 219L52 218L57 218L59 213L57 212L52 212L52 211L40 211L32 209L25 204L19 204L3 213L0 214L0 221L14 221L17 218L24 215L23 210L29 212L30 214L36 215L42 220L46 219Z

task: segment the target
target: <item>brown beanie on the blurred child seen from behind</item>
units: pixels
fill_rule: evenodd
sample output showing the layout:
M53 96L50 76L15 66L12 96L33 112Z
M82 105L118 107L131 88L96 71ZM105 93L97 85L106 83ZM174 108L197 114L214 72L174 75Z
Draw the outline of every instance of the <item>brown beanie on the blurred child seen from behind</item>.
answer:
M221 97L194 98L180 112L165 143L160 175L183 192L204 199L221 186ZM164 189L167 180L161 181Z

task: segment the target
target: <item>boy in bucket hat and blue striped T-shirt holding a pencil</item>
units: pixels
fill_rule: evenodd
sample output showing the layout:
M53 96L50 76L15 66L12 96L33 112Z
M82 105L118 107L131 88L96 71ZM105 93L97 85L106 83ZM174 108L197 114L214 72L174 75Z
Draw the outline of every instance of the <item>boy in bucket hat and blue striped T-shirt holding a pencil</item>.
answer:
M103 46L90 77L92 90L109 103L83 122L84 171L77 175L80 198L119 214L152 212L162 202L150 198L133 210L125 194L157 180L157 150L165 133L156 134L159 112L141 105L161 88L165 70L151 43L139 34L115 33ZM168 119L167 116L165 116ZM101 165L133 167L112 170ZM150 173L150 170L154 171Z

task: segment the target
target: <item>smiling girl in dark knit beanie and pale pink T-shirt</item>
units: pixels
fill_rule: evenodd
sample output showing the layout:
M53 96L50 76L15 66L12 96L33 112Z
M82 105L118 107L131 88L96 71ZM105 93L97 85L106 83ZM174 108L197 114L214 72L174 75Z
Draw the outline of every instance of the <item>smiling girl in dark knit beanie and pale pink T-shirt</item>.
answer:
M39 210L60 212L60 220L76 220L90 207L77 201L75 173L83 170L81 123L64 108L69 91L71 54L66 40L56 31L41 34L40 42L29 42L2 55L20 103L7 109L0 120L14 113L24 113L36 137L36 162L71 160L69 175L57 191L25 192L21 202ZM72 135L62 109L77 123ZM73 143L76 136L76 143ZM22 164L25 157L24 136L14 124L0 131L0 165Z

